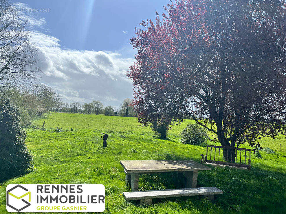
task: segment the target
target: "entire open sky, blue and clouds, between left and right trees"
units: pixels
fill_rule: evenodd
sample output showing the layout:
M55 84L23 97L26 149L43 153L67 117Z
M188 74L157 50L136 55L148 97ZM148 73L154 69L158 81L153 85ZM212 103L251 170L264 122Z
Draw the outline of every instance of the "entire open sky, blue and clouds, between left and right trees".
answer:
M28 20L38 48L40 82L53 87L64 102L100 100L119 107L132 98L126 77L136 50L129 44L142 20L155 20L169 0L12 1Z

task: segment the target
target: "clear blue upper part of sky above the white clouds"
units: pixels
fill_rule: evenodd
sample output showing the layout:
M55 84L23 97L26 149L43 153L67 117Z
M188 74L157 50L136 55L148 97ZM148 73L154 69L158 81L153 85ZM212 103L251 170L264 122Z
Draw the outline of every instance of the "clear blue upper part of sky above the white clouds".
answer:
M131 49L129 39L134 28L146 19L154 19L155 11L163 12L169 0L119 1L22 1L45 18L49 34L58 38L60 45L77 50L107 50L122 52ZM124 33L124 32L126 33ZM132 55L131 55L132 54Z

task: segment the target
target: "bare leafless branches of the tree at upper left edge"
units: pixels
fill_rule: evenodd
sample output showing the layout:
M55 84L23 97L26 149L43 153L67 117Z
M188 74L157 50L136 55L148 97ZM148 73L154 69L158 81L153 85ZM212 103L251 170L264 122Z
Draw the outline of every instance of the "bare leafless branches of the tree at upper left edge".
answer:
M10 1L0 0L0 87L23 85L36 77L37 50L30 42L27 20L19 17Z

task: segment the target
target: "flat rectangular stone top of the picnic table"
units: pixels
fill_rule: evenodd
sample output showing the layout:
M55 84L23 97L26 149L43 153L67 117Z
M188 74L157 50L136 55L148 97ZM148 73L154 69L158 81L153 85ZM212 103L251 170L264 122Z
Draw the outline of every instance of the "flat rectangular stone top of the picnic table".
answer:
M127 173L211 170L193 160L120 160Z

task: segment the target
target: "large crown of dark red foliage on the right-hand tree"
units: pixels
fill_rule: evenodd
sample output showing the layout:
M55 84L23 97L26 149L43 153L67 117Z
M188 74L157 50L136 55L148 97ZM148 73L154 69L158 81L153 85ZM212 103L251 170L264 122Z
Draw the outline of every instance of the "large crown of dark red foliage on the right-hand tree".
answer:
M285 134L284 0L184 0L165 10L131 39L139 122L192 117L222 145Z

